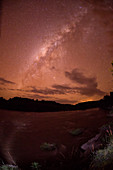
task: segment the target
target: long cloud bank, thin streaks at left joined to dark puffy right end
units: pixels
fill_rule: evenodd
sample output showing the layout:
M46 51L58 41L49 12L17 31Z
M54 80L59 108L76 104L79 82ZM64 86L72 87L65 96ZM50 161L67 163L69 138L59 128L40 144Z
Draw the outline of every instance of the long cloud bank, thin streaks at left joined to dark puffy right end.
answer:
M78 83L79 86L69 86L66 84L53 84L51 88L38 89L35 86L29 86L27 89L10 89L20 92L25 92L30 94L32 97L38 98L51 98L53 95L67 95L67 94L76 94L85 95L88 97L99 95L105 95L105 92L98 89L98 83L95 77L86 77L78 69L73 69L71 72L65 72L65 76L74 83ZM81 86L82 85L82 86ZM51 97L50 97L51 96ZM61 101L62 103L66 101ZM68 102L68 101L67 101ZM70 103L72 101L69 101Z

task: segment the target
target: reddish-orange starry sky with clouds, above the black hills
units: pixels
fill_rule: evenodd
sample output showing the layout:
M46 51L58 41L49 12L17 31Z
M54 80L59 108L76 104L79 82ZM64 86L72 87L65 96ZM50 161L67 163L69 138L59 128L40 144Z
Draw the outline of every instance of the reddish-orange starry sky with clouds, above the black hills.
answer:
M2 0L0 96L76 104L113 90L112 0Z

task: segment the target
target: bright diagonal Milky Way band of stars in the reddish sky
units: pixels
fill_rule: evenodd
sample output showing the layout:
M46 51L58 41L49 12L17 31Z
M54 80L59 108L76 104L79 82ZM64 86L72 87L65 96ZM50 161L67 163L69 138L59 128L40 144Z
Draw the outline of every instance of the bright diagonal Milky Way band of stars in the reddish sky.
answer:
M82 7L79 8L81 9ZM73 14L73 16L70 17L68 23L63 25L61 30L54 32L52 38L48 37L45 40L45 43L40 47L33 63L29 65L23 83L27 80L29 81L32 77L37 78L38 76L40 77L40 75L44 76L43 74L47 74L51 69L53 71L58 65L64 67L61 62L65 55L65 49L62 48L62 44L63 42L68 41L69 36L72 37L73 33L76 32L77 24L79 24L86 14L87 8L82 8L77 14ZM52 78L55 79L55 75L52 75Z

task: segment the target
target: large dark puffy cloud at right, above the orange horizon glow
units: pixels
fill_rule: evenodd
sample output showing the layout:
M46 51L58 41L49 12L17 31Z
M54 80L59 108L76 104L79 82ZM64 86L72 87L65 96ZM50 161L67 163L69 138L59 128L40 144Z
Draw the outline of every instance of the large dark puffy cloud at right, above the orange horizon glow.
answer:
M74 83L79 83L84 85L84 87L75 87L77 93L86 96L99 95L102 96L105 94L102 90L98 89L98 83L95 77L86 77L82 72L77 68L73 69L71 72L65 72L65 76Z

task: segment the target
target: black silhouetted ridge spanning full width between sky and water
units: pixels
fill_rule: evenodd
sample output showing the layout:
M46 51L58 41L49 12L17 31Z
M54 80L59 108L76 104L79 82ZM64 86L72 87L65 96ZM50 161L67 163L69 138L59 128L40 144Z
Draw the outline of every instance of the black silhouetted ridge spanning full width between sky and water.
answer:
M106 95L103 99L97 101L82 102L76 105L60 104L55 101L38 101L34 99L14 97L9 100L0 97L0 109L29 111L29 112L55 112L68 110L84 110L100 107L108 109L113 106L113 92L110 96Z

